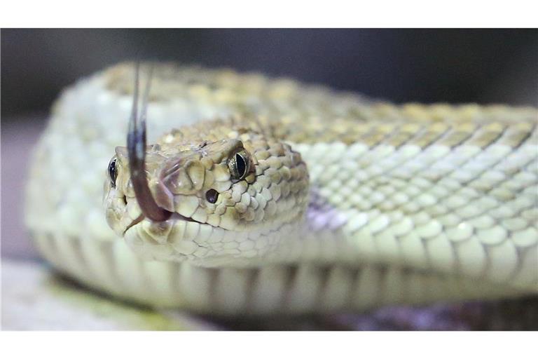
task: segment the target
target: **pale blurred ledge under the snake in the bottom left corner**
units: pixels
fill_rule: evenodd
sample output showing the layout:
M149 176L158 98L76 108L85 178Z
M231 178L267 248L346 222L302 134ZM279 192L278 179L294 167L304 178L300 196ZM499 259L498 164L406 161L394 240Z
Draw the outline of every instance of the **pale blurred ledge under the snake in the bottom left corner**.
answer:
M53 275L39 263L2 263L4 330L212 330L192 316L127 306Z

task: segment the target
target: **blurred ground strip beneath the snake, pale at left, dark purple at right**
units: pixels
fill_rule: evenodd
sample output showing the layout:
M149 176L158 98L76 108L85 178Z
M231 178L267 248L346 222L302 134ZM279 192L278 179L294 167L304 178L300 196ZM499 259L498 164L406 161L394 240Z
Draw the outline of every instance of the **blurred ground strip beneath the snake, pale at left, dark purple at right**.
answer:
M537 330L534 299L385 308L319 317L210 318L153 311L76 285L48 266L4 259L4 330Z

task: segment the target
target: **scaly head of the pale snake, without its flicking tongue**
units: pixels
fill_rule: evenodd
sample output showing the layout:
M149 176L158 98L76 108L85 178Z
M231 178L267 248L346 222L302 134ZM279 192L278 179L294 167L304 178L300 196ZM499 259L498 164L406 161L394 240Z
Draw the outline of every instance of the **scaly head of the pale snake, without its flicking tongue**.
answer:
M193 131L199 138L187 140ZM308 204L300 154L215 121L175 130L146 147L151 196L171 213L155 221L140 208L127 152L117 147L108 168L106 219L144 258L213 265L260 257L285 240L279 233L298 228Z

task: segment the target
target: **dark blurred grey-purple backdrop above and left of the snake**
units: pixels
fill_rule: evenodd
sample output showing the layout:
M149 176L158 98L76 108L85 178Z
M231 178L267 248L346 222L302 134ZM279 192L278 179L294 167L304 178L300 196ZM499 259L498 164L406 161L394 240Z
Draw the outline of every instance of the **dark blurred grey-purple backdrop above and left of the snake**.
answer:
M2 29L0 36L1 255L17 263L39 261L22 203L29 151L50 106L62 88L116 62L232 67L393 102L538 105L537 29ZM396 328L395 316L389 312L387 328Z

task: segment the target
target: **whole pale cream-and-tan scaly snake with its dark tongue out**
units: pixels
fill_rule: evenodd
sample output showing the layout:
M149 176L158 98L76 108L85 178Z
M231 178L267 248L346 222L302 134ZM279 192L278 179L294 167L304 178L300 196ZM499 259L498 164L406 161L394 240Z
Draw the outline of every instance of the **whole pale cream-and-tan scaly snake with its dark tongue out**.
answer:
M125 62L53 105L25 219L57 271L158 308L298 315L535 295L537 121L536 107L392 104Z

